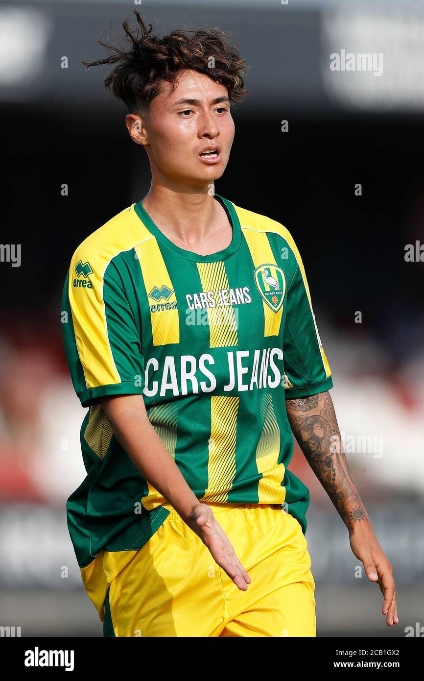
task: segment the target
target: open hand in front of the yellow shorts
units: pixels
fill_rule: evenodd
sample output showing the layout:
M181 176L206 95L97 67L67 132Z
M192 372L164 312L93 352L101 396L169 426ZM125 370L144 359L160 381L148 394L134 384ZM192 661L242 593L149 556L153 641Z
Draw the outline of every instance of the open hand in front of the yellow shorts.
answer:
M200 537L205 544L215 563L217 563L233 580L234 584L242 591L247 590L251 580L235 555L233 546L218 523L212 509L208 504L195 505L188 518L184 522Z

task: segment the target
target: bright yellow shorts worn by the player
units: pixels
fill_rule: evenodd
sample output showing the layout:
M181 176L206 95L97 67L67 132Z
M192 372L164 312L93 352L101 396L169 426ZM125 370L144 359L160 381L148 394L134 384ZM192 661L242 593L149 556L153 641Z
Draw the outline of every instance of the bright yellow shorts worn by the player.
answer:
M172 509L110 583L104 635L316 636L315 584L299 522L280 505L210 507L252 580L247 590Z

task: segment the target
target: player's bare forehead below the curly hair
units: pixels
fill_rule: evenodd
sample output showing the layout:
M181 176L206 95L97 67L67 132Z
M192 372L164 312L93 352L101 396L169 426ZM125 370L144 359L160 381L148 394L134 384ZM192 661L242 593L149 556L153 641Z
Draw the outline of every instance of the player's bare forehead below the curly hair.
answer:
M174 91L169 82L164 82L161 93L155 99L161 99L163 104L172 105L179 99L200 99L208 101L216 97L227 97L227 88L221 83L212 80L206 74L185 69L178 74L178 80Z

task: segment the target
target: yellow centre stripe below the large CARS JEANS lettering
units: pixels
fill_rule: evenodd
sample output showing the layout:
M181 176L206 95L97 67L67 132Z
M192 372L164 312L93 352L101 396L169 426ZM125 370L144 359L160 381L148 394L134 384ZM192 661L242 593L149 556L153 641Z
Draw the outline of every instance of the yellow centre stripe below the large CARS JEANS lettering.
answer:
M235 445L240 398L212 396L210 400L210 440L208 489L201 501L225 503L235 478Z

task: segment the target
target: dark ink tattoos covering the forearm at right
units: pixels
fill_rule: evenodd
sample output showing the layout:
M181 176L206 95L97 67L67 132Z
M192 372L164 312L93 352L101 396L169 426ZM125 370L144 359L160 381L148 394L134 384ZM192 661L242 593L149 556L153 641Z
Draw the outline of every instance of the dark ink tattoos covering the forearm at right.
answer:
M299 400L286 400L295 438L348 530L368 517L350 477L336 412L328 390Z

